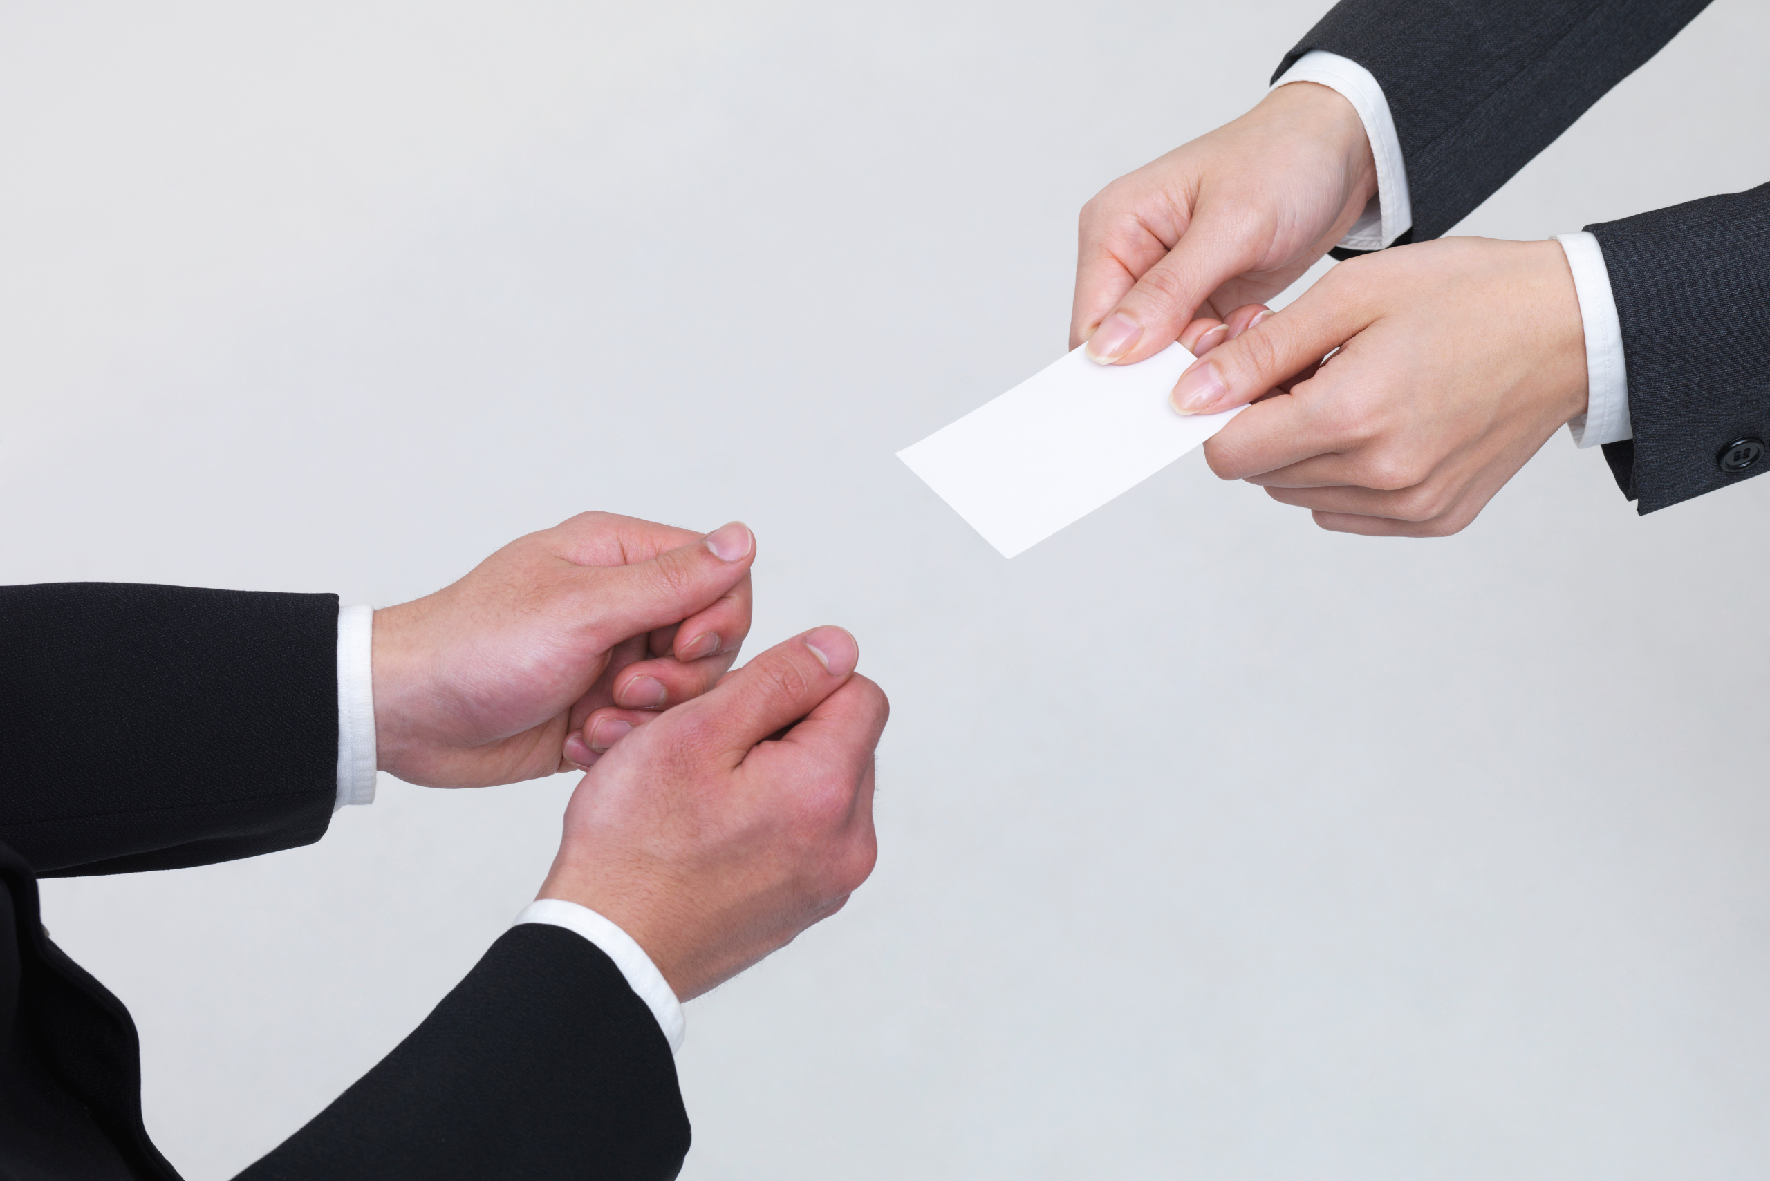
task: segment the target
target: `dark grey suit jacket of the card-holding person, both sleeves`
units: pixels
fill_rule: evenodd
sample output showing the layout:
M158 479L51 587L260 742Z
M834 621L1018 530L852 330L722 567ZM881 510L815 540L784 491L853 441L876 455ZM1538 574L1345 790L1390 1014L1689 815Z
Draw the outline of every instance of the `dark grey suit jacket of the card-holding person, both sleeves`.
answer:
M1446 233L1639 69L1708 0L1345 0L1310 50L1382 85L1407 166L1412 230ZM1722 451L1770 440L1770 193L1763 187L1586 226L1623 329L1634 438L1604 453L1653 513L1770 470Z

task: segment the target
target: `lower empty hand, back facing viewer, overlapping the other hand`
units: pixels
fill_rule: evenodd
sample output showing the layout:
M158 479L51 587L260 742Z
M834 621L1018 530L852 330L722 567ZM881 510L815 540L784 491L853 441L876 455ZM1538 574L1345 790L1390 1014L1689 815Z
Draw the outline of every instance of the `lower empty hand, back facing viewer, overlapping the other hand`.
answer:
M843 909L873 872L889 705L816 628L630 734L584 776L542 898L646 949L687 1001Z

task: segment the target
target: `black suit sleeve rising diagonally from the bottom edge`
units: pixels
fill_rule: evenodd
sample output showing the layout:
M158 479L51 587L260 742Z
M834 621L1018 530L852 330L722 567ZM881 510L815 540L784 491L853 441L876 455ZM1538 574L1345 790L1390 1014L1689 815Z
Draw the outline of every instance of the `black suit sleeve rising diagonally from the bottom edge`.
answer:
M687 1153L651 1010L595 944L524 923L237 1181L669 1181Z

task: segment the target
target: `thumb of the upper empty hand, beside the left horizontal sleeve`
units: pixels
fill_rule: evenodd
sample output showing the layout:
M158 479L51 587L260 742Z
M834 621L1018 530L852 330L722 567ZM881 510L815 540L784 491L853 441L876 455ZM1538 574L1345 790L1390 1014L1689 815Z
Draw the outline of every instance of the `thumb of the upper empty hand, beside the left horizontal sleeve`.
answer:
M743 522L644 562L595 566L596 631L602 647L689 619L717 603L756 560L756 536Z

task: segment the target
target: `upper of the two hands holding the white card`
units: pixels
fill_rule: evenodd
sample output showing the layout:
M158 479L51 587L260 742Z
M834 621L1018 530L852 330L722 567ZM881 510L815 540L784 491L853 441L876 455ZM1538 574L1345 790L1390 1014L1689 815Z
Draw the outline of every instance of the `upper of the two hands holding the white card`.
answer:
M1377 193L1358 111L1312 81L1110 186L1081 209L1069 347L1101 364L1166 348L1195 315L1266 302ZM1205 347L1214 341L1207 341Z

